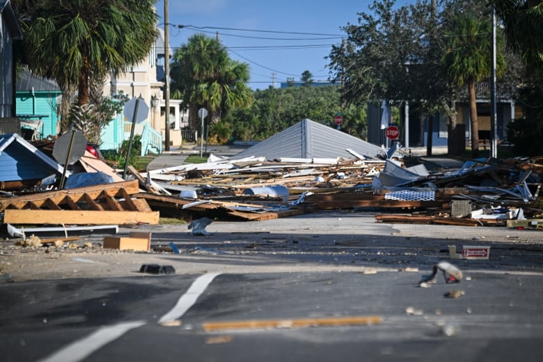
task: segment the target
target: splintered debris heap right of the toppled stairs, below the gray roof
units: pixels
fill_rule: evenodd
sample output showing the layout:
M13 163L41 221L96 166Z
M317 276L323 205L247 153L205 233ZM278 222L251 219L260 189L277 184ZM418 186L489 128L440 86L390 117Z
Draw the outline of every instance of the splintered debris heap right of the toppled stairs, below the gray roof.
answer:
M434 171L425 166L430 158L407 167L397 154L326 162L211 159L150 171L145 175L148 183L172 195L137 196L152 207L219 219L265 220L313 210L366 209L402 212L377 215L377 221L386 222L537 227L535 218L542 213L541 159L455 162L457 168L434 165Z

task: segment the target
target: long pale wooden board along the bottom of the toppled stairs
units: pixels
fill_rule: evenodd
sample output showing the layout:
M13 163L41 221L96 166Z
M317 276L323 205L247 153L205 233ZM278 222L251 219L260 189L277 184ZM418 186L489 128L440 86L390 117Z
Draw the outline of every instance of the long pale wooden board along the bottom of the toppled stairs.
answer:
M4 210L4 223L111 225L159 223L159 212L86 210Z

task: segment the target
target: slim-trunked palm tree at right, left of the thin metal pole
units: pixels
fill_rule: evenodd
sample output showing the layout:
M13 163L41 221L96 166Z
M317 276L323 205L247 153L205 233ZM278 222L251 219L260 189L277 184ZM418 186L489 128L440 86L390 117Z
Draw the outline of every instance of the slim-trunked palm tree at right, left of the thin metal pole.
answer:
M475 83L491 74L491 20L460 14L453 18L445 32L446 51L441 59L446 77L459 87L467 85L471 118L471 150L479 157L479 125L475 98ZM503 54L496 54L496 71L505 65Z

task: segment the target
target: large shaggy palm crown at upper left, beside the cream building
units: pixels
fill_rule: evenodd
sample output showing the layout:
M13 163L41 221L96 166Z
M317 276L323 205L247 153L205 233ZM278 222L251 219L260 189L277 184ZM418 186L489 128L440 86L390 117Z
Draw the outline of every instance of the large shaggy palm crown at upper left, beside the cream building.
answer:
M88 103L90 77L125 72L148 56L157 36L152 0L16 1L26 63L38 74L78 86Z

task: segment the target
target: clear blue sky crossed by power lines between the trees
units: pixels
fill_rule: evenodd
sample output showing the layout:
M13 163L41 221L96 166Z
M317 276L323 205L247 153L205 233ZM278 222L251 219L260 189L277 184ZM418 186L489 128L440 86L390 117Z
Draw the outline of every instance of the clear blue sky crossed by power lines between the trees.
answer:
M249 63L253 89L276 87L287 78L298 81L304 70L315 81L326 81L325 56L340 44L341 27L358 24L357 13L368 13L370 0L169 0L170 47L175 49L198 31L216 36L228 47L230 58ZM398 3L404 1L398 1ZM164 0L156 3L164 29ZM178 29L177 25L205 27ZM230 28L230 29L214 29ZM256 31L237 31L247 29ZM263 31L288 32L265 33ZM326 34L311 36L294 33ZM329 36L328 36L329 35ZM248 38L253 37L253 38ZM282 40L264 39L281 38ZM285 38L297 40L284 40ZM259 48L256 48L259 47ZM269 48L272 47L272 48ZM274 48L275 47L275 48Z

